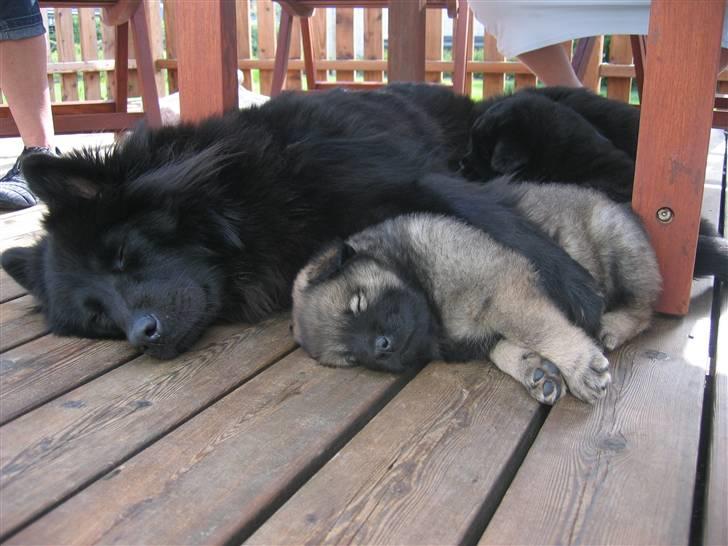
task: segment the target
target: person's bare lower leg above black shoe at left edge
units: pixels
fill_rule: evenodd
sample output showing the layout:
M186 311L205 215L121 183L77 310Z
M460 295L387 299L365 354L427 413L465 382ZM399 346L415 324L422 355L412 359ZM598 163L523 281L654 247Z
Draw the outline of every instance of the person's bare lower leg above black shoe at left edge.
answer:
M50 148L51 98L45 37L0 41L0 88L26 147Z

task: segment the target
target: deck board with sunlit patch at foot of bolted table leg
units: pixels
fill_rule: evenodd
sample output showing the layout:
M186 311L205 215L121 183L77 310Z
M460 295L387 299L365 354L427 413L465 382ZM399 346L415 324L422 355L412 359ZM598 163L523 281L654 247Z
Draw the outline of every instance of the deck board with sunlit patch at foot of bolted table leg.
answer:
M610 355L605 399L554 407L481 545L688 543L709 285L696 282L688 317Z

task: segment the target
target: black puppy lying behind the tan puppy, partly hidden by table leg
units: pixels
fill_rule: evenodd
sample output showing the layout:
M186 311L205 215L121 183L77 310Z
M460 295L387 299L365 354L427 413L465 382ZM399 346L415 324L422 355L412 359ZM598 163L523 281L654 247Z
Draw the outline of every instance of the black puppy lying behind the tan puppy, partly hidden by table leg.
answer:
M530 88L475 106L461 173L488 181L589 186L618 202L632 198L639 111L585 89ZM701 221L695 276L728 281L728 242Z

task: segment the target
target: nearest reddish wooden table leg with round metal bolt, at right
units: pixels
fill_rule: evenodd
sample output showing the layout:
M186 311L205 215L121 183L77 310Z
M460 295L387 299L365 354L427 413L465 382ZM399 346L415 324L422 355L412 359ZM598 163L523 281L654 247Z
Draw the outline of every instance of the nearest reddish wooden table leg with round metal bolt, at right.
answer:
M632 206L660 262L663 313L690 303L724 8L652 2Z

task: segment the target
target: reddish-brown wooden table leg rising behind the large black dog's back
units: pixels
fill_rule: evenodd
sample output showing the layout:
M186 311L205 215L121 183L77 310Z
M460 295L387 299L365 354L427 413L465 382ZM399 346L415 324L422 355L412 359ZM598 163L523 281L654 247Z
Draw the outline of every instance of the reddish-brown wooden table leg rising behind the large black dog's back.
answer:
M389 2L389 82L425 81L425 3L425 0Z

